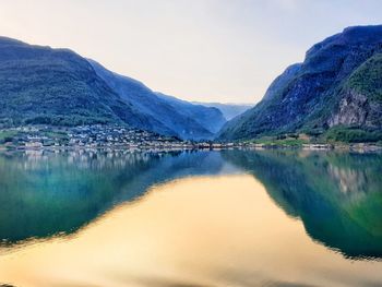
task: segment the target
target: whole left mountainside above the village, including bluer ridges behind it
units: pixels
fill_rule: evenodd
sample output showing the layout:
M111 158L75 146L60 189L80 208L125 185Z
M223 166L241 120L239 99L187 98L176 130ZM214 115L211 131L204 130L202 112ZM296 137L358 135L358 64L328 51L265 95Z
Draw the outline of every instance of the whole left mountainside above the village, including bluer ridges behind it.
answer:
M188 109L188 110L184 110ZM186 140L214 137L222 112L174 106L144 84L69 49L0 37L0 125L127 124Z

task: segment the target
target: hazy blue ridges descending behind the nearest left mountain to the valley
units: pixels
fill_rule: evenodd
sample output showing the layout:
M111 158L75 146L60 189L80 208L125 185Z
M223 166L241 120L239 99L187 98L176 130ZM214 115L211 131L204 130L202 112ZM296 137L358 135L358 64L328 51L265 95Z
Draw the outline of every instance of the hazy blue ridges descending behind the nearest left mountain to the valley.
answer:
M212 139L225 123L222 112L217 109L154 93L141 82L110 72L93 60L88 61L121 98L138 110L155 117L182 139Z

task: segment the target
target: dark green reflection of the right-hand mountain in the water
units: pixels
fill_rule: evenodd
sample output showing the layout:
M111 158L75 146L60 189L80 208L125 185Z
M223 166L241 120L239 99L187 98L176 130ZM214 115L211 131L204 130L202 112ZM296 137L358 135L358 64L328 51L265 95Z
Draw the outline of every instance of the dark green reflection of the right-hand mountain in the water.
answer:
M350 258L382 258L382 156L224 152L308 234Z

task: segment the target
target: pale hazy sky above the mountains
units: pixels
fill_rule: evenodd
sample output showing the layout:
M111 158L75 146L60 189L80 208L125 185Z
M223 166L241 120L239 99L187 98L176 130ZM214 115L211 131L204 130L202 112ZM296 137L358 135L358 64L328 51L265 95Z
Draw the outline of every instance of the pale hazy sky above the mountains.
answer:
M286 67L380 0L0 0L0 35L70 48L187 100L258 103Z

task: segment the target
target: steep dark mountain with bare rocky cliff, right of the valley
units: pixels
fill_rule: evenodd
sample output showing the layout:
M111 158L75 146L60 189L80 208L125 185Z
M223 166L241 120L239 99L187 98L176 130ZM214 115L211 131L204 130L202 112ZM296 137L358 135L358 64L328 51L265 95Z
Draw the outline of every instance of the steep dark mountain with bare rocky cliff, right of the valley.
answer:
M263 99L227 122L218 137L332 132L379 140L381 130L382 25L354 26L309 49L302 63L287 68Z

